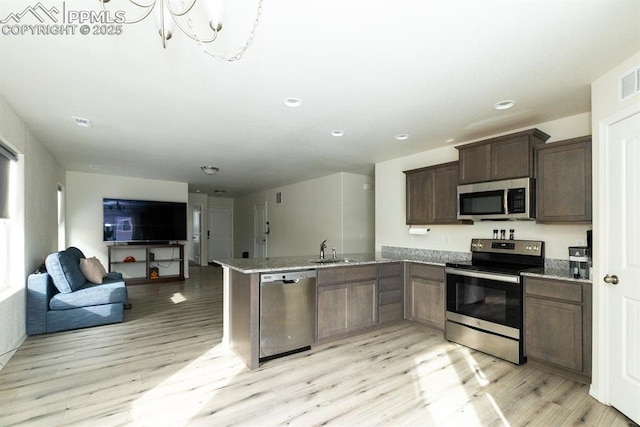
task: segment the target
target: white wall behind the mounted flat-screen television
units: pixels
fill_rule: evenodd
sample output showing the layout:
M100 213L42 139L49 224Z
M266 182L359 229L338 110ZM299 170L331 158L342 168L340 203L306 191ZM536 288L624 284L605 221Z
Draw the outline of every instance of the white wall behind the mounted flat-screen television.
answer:
M102 236L102 198L188 202L185 182L67 172L67 246L95 256L108 269L107 243ZM187 258L185 256L185 258ZM189 269L185 259L185 275Z

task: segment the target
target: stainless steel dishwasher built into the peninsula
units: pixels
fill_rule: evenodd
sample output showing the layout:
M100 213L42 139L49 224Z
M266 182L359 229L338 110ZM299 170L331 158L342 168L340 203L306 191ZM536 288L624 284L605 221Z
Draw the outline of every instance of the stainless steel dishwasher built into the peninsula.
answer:
M260 360L310 349L315 311L315 270L261 274Z

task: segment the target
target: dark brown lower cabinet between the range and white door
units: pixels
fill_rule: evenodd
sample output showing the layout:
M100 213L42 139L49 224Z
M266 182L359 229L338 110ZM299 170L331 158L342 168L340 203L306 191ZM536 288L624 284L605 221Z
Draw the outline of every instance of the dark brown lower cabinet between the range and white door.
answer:
M528 362L591 382L591 283L525 277Z

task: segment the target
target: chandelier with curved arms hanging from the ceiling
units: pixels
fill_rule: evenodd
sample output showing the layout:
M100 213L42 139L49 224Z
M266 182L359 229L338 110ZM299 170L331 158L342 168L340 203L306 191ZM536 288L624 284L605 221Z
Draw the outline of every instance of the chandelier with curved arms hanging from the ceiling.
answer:
M109 3L111 0L98 0L102 3L102 9L106 12L106 3ZM156 10L157 12L157 22L160 27L158 30L158 34L160 34L160 38L162 39L162 47L167 47L167 41L171 39L173 36L172 29L177 28L183 34L188 36L191 40L195 41L198 45L203 48L203 51L214 59L223 60L223 61L237 61L242 59L245 52L249 47L253 44L253 39L256 35L256 30L258 29L258 24L260 23L260 17L262 16L262 1L258 0L258 10L256 13L256 18L253 21L252 28L249 32L249 36L246 42L227 54L216 54L208 50L205 45L209 45L213 43L217 38L218 34L222 31L222 22L220 18L217 20L208 19L205 25L202 25L201 22L196 30L196 25L194 19L201 19L202 15L194 12L194 7L196 6L196 2L198 0L128 0L130 4L135 6L140 10L140 16L135 18L124 20L124 24L136 24L140 21L146 19L151 13ZM208 3L211 0L199 0L201 3ZM191 16L194 15L194 16ZM128 18L128 16L127 16Z

